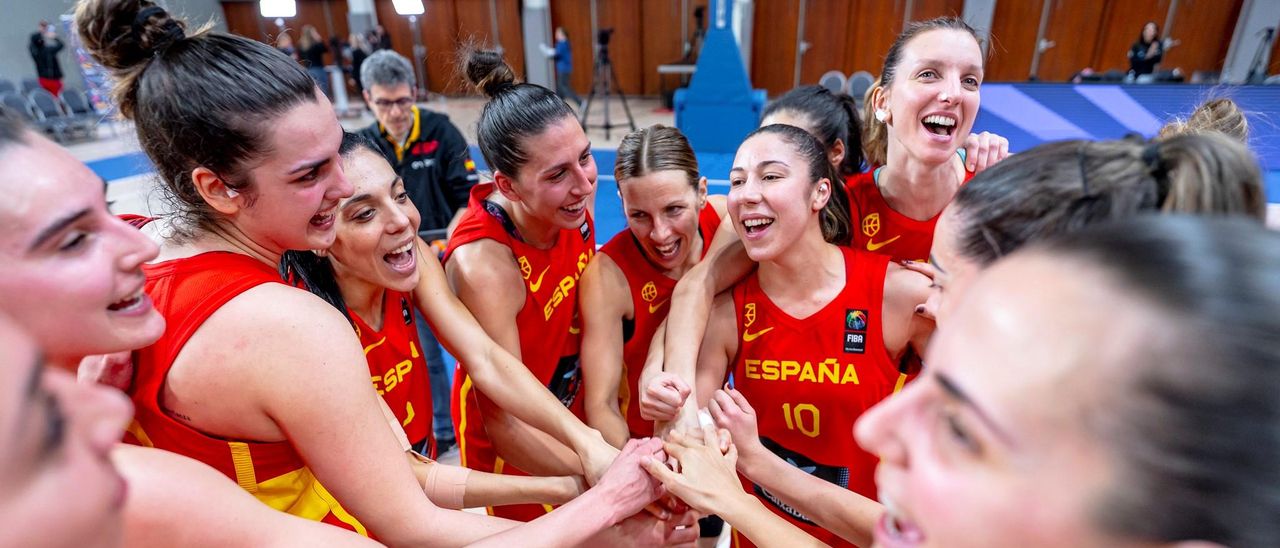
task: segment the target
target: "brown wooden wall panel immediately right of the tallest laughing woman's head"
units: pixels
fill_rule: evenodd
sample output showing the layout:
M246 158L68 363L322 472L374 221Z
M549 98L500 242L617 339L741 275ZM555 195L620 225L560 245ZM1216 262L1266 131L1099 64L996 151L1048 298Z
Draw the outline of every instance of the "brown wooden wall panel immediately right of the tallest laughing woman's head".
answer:
M1023 82L1030 74L1036 52L1036 29L1042 4L1038 0L997 1L991 19L984 82Z

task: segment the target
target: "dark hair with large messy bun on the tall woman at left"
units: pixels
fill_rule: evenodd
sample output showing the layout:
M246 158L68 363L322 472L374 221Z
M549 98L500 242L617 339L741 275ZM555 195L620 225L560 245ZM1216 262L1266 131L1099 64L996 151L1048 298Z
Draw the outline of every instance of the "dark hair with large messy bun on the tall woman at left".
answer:
M76 27L115 77L115 102L165 182L179 236L216 222L191 181L193 169L250 195L244 166L271 152L273 122L316 101L311 77L276 49L209 26L188 36L186 22L147 0L81 0Z

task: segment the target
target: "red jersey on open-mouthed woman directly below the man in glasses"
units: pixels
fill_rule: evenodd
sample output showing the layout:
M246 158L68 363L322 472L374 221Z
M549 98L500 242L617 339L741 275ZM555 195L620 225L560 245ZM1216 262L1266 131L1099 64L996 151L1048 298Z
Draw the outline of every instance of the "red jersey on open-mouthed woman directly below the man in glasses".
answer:
M383 329L375 330L356 312L347 310L365 348L370 379L378 396L399 419L413 448L435 458L431 431L431 384L426 376L408 294L388 289L383 296Z

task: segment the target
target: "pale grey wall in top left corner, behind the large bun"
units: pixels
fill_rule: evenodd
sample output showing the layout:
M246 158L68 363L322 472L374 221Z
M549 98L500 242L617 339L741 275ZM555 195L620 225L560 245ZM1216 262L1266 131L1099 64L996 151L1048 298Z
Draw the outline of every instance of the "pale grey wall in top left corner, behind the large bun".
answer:
M192 26L202 24L211 18L215 28L227 29L223 20L223 8L218 0L161 0L175 14L182 14ZM59 36L65 38L59 18L69 15L76 9L74 0L4 0L0 18L0 77L19 83L23 78L36 77L36 63L27 52L31 35L38 29L41 19L59 24ZM70 49L58 55L61 60L67 86L84 87Z

